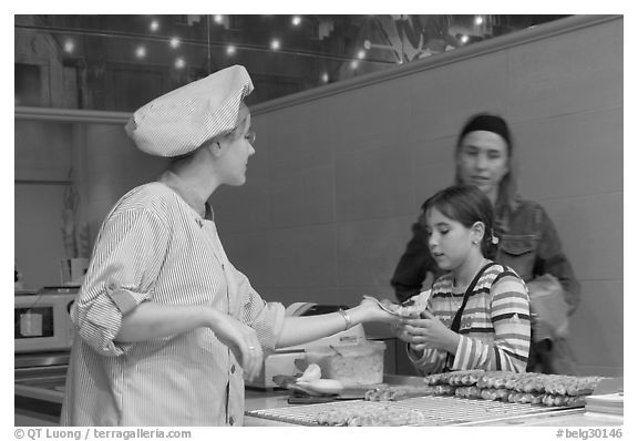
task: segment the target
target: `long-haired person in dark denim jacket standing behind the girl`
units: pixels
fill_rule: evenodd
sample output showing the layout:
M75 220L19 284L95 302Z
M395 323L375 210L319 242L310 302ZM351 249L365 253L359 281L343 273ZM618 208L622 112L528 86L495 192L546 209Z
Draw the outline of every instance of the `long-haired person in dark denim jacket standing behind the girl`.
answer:
M494 260L513 268L527 284L536 328L533 332L527 370L546 373L575 373L575 360L567 342L568 316L576 310L580 286L562 249L554 223L538 203L524 199L516 189L514 140L507 122L488 113L473 115L461 130L454 153L455 183L478 187L492 202L500 242ZM428 250L424 213L412 226L413 237L401 256L392 286L397 298L405 300L430 287L442 274ZM488 256L491 257L491 256ZM548 289L553 293L547 296ZM560 308L534 305L554 299ZM565 310L558 319L545 311ZM554 315L552 315L554 316ZM558 324L543 328L542 324Z

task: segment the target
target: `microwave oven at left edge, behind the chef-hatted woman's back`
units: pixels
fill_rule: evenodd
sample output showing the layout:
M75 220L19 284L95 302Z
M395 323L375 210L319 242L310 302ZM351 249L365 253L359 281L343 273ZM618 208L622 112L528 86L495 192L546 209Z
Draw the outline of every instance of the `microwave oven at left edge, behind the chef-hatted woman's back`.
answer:
M78 287L44 287L13 297L14 352L68 351L74 326L70 310Z

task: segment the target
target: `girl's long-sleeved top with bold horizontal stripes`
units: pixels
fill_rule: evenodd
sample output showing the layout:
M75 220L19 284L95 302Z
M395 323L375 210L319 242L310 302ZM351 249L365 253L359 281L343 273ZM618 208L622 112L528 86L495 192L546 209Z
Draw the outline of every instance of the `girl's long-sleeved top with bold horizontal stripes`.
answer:
M453 290L453 276L441 276L432 287L429 310L449 328L465 293ZM484 369L524 372L529 356L529 298L513 269L493 265L483 273L461 316L455 357L439 349L412 350L409 357L422 373Z

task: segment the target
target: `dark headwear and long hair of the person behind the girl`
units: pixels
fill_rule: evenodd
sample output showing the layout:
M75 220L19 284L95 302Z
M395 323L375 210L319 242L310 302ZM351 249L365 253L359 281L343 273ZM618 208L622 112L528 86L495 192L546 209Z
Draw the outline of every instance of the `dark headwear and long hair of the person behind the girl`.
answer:
M501 183L498 184L498 198L496 201L496 212L501 213L503 208L511 208L515 209L516 201L518 197L517 188L516 188L516 164L514 157L514 142L512 139L512 133L510 132L510 127L507 122L498 115L491 114L491 113L477 113L470 117L459 137L456 139L456 151L455 154L459 154L461 148L461 143L466 134L476 131L485 131L492 132L500 135L505 143L507 144L507 158L510 163L510 171L503 176ZM461 174L459 173L459 168L456 168L456 177L454 180L455 184L463 184L461 182Z

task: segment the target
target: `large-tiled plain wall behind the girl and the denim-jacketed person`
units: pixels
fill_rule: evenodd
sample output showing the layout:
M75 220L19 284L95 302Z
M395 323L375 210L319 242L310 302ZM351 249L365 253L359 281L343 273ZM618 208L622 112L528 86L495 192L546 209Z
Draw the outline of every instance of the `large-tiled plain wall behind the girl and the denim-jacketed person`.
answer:
M214 196L222 238L268 299L391 297L422 201L452 183L476 111L512 124L522 194L554 219L583 285L583 373L622 373L622 19L338 93L257 107L248 183Z

